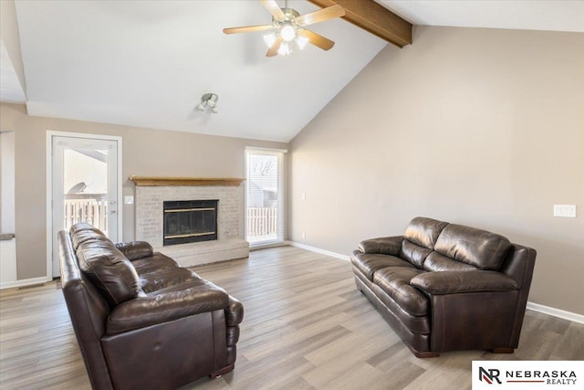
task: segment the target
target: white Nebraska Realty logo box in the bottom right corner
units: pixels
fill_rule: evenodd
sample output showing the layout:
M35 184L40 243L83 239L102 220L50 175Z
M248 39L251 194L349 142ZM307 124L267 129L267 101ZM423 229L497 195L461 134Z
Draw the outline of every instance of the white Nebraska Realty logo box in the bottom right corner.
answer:
M474 361L473 389L584 388L583 361Z

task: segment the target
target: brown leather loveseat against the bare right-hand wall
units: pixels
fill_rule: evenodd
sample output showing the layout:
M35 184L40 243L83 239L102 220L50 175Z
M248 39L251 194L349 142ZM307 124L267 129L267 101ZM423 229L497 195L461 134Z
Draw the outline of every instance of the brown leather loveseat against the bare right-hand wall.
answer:
M506 237L425 217L351 256L357 288L417 357L513 353L535 260Z

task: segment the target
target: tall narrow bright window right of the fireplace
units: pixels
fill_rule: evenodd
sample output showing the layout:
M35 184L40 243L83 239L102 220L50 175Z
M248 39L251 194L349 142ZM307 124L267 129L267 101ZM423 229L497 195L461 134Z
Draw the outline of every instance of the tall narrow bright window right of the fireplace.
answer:
M245 239L250 246L284 241L284 153L276 149L245 150Z

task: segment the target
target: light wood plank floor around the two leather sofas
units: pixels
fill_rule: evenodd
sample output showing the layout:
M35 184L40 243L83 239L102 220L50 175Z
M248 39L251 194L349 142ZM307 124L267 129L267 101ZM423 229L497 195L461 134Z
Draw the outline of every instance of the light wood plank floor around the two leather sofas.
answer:
M473 360L584 360L584 325L534 311L514 354L417 359L355 289L349 262L299 248L194 270L241 300L245 318L235 371L184 389L470 389ZM89 387L57 282L1 291L0 388Z

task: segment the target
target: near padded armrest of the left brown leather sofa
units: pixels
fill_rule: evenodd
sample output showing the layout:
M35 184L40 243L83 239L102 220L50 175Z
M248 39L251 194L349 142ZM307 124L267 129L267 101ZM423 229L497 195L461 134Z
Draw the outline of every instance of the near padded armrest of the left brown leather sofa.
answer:
M172 290L126 300L111 312L107 334L129 332L203 312L225 310L229 296L210 281L194 279ZM243 314L242 314L243 315Z

